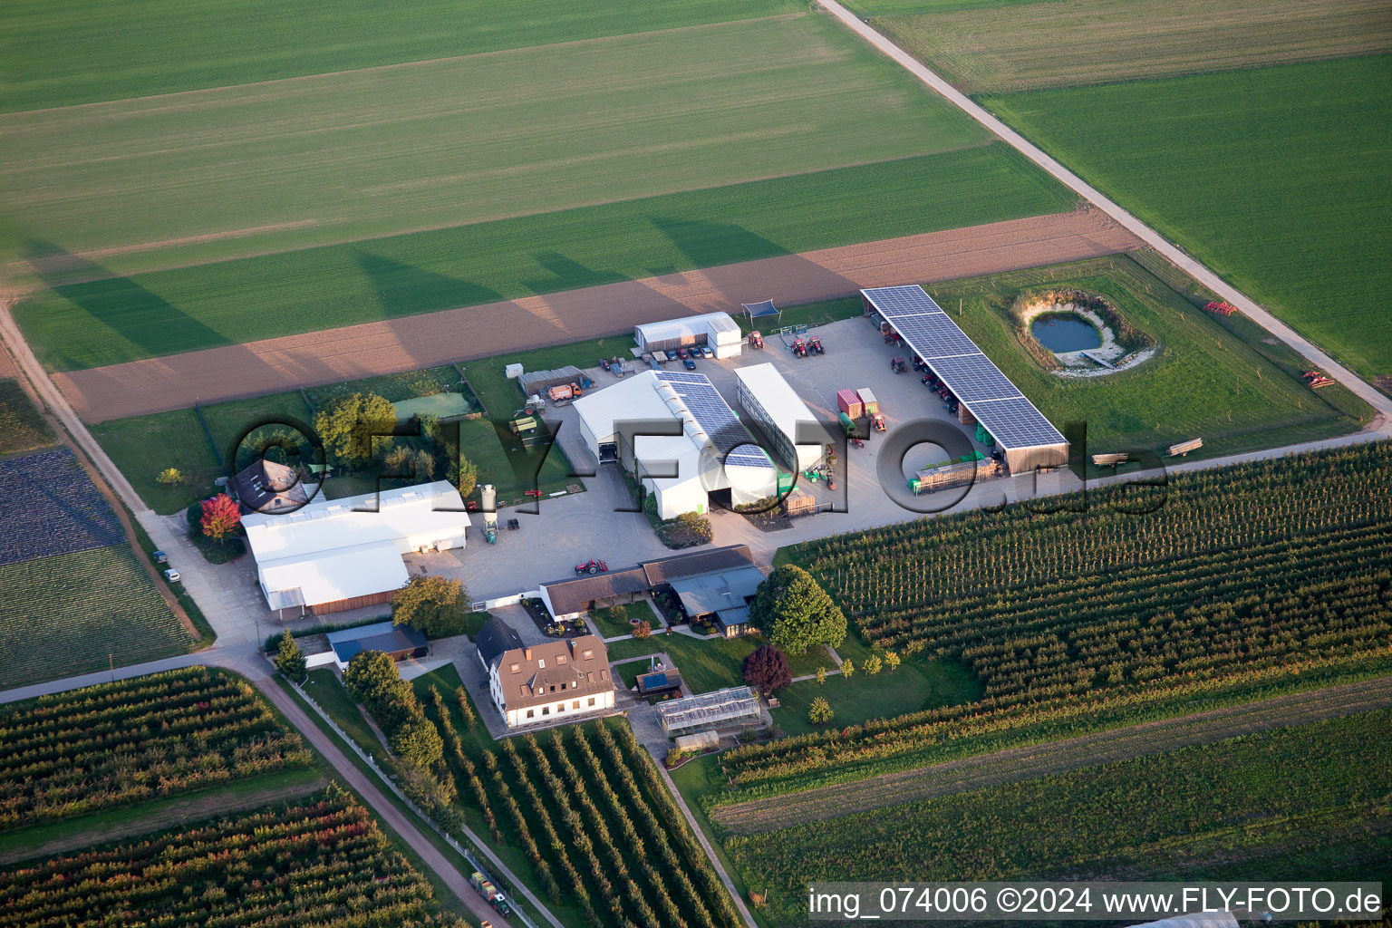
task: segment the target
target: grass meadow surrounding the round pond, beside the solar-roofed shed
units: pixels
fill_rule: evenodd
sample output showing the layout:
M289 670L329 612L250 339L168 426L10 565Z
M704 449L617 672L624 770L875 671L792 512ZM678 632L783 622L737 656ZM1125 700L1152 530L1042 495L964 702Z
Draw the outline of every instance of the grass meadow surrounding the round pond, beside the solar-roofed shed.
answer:
M1030 288L1077 287L1109 299L1160 353L1130 370L1061 378L1022 348L1008 317ZM1130 257L933 284L928 291L962 330L1061 427L1087 423L1089 452L1160 451L1203 437L1212 456L1354 431L1370 409L1343 387L1310 390L1308 363L1242 316L1194 306ZM960 314L959 314L960 305Z

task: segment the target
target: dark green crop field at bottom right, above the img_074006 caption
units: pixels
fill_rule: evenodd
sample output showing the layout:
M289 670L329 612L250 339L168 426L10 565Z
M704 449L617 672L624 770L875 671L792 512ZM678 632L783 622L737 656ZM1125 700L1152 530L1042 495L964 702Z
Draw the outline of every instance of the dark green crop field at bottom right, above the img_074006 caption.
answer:
M864 879L1378 879L1388 711L1276 729L727 840L774 925ZM1118 815L1118 810L1126 810Z

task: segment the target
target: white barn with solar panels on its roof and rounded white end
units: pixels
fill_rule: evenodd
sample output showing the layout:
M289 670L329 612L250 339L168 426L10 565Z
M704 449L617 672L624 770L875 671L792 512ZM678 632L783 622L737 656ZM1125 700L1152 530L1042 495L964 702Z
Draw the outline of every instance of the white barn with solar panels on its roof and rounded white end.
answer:
M644 370L576 399L575 410L590 454L635 474L663 519L704 513L710 494L725 505L777 494L778 470L768 454L704 374ZM635 434L644 431L636 423L671 434Z

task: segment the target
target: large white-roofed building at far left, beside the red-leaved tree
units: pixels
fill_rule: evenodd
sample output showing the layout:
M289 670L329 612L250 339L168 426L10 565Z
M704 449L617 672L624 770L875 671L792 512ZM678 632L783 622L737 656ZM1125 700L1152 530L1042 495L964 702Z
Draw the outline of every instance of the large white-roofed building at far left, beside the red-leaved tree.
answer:
M401 555L462 548L469 513L454 484L437 480L253 512L242 527L266 604L323 615L390 602L409 579Z

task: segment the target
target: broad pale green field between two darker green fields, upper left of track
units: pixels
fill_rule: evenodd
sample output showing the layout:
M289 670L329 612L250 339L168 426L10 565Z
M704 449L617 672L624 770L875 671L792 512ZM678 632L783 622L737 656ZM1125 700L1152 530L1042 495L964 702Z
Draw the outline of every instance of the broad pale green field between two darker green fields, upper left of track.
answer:
M0 134L0 262L49 285L988 138L820 15L8 114Z

